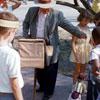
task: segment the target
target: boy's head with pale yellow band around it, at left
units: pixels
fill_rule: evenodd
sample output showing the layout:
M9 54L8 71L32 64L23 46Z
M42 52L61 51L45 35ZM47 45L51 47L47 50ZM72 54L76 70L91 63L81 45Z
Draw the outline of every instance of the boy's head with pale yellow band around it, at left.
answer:
M0 39L8 43L14 38L16 28L18 28L18 19L9 12L0 12Z

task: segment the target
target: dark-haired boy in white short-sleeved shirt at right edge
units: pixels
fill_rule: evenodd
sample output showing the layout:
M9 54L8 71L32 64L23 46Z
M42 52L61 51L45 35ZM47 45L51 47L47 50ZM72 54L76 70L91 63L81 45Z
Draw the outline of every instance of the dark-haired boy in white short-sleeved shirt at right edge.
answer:
M100 100L100 27L97 27L92 31L92 37L95 48L91 51L89 57L90 81L95 85L95 88L98 91L98 96L95 99Z

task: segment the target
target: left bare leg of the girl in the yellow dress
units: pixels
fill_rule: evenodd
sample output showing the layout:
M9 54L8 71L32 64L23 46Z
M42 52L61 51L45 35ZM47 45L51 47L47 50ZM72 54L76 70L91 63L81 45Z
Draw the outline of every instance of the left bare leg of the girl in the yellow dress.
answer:
M80 74L80 71L81 71L81 64L75 63L75 72L73 75L73 85L75 84L77 76Z

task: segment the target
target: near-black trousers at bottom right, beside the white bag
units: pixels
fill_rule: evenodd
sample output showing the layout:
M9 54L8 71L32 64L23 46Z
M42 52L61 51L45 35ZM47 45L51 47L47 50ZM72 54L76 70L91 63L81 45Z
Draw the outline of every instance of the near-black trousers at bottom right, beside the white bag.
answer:
M93 85L91 80L88 80L86 100L96 100L97 96L98 96L98 91L96 85Z

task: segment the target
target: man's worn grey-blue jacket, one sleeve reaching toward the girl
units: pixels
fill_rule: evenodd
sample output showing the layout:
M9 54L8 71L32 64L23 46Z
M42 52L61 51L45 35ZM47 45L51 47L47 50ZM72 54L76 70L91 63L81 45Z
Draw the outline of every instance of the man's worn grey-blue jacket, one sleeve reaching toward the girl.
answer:
M37 21L38 21L38 7L29 8L24 23L23 23L23 36L27 37L30 30L31 38L36 38L37 33ZM46 42L54 47L54 53L51 63L56 63L59 55L59 36L58 26L67 30L71 34L81 37L80 32L75 26L73 26L64 16L63 13L54 9L51 9L47 14L44 38Z

